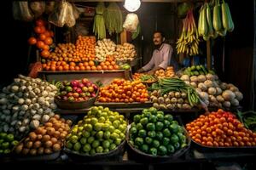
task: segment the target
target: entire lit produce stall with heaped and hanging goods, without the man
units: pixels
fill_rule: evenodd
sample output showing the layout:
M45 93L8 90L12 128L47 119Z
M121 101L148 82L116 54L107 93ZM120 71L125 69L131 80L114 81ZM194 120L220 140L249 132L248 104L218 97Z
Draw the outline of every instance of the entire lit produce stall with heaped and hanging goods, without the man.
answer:
M146 3L175 4L173 57L190 59L188 66L137 72L148 49L135 11ZM244 95L212 65L212 42L236 31L229 3L13 2L15 20L31 23L36 62L0 94L0 162L148 169L253 162L256 114L243 110Z

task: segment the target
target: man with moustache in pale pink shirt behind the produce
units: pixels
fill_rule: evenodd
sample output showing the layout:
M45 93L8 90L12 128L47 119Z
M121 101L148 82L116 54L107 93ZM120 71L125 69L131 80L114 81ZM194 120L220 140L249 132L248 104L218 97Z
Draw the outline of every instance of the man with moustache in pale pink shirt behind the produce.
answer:
M169 65L172 65L177 70L177 62L172 59L173 48L171 45L164 43L165 37L161 31L154 32L153 42L155 49L152 58L147 65L144 65L137 72L148 72L148 74L153 75L154 71L166 69Z

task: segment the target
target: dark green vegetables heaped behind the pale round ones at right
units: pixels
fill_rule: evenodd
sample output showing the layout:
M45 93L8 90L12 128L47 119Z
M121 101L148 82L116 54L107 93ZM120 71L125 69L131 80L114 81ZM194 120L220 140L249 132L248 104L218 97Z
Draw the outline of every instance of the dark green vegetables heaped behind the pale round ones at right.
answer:
M183 74L191 76L199 76L199 75L207 75L208 73L214 75L214 71L208 71L204 65L192 65L191 67L187 67Z

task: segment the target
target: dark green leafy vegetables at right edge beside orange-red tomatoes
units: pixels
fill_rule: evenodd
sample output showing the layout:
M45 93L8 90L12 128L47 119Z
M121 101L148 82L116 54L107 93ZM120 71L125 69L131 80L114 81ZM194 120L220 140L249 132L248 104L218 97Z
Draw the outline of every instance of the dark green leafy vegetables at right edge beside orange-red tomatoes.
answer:
M256 132L256 112L255 111L237 111L239 120L244 124L245 127Z

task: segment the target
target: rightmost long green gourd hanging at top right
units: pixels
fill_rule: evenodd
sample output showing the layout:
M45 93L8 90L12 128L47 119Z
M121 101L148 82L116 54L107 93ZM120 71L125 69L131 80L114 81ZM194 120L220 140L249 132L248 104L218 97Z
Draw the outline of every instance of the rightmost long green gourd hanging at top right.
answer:
M233 31L234 30L234 23L232 20L232 16L230 14L230 8L228 3L223 3L221 4L221 10L222 10L222 21L223 21L223 26L224 29L227 31Z

